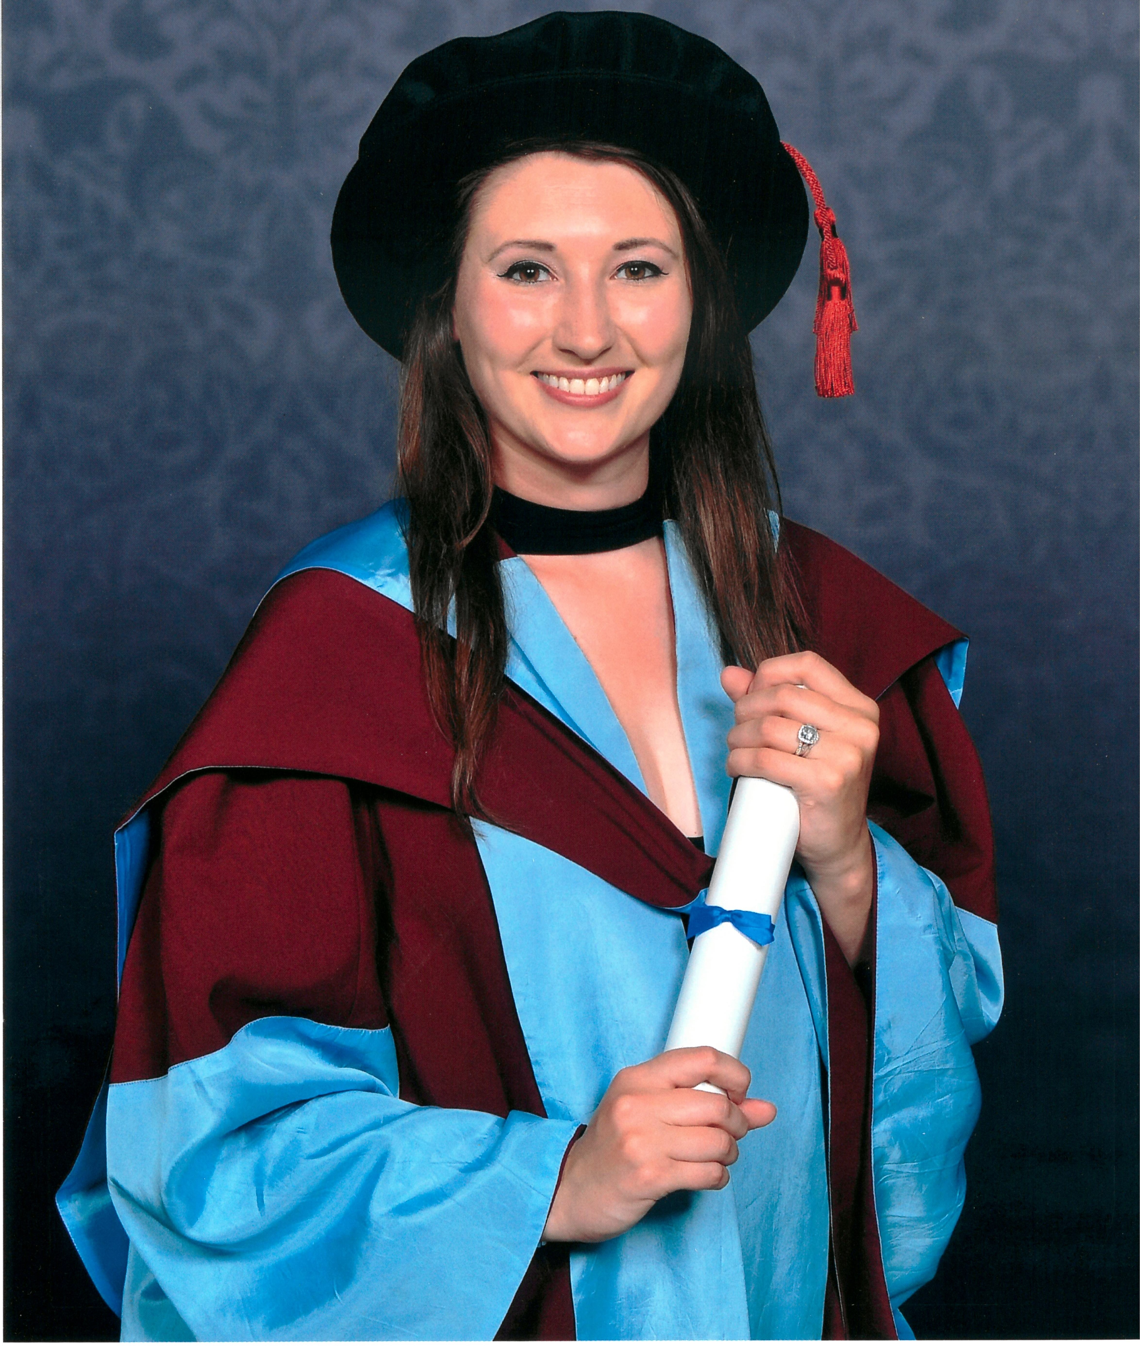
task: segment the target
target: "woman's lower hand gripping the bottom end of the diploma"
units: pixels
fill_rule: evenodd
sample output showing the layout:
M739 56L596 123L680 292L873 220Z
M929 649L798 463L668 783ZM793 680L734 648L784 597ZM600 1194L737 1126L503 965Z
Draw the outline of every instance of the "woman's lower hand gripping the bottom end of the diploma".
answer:
M704 1081L724 1094L693 1088ZM770 1102L744 1097L750 1081L747 1066L712 1047L619 1070L571 1145L542 1237L598 1244L670 1191L727 1186L736 1141L775 1117Z

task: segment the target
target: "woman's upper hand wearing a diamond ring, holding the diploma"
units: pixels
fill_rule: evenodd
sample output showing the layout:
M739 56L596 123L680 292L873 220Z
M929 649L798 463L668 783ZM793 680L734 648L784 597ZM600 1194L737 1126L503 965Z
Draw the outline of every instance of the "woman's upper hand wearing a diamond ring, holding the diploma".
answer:
M758 775L793 790L799 804L795 857L847 961L855 962L875 880L867 790L879 746L879 707L812 653L764 660L755 674L727 668L720 681L736 703L728 774ZM820 739L797 756L802 724L814 725Z

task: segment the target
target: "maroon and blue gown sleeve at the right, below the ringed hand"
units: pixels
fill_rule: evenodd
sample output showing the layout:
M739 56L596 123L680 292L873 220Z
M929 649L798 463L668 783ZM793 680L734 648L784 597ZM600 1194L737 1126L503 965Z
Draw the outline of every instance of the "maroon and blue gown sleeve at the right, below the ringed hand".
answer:
M989 812L960 690L930 657L887 692L872 785L867 1120L900 1337L913 1334L899 1306L934 1276L965 1201L964 1154L981 1104L970 1047L993 1028L1003 1000Z

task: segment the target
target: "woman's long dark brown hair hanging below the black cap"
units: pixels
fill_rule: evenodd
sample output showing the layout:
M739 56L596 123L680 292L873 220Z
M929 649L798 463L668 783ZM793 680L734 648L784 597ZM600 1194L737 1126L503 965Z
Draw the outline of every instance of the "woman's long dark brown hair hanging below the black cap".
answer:
M450 280L420 304L405 342L397 485L424 674L455 746L452 804L485 814L476 777L505 682L507 626L491 507L491 441L452 336L459 260L479 187L502 164L557 151L627 164L673 207L681 226L693 319L681 381L653 427L650 454L668 518L677 521L727 662L755 668L799 647L802 616L769 511L779 485L724 260L684 183L615 145L526 141L459 186L460 227ZM448 622L454 639L448 635Z

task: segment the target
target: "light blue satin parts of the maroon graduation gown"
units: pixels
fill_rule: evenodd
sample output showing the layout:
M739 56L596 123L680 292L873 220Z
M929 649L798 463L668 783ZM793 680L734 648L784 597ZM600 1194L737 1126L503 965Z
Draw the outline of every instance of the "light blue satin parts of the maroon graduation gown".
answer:
M674 525L665 546L677 693L716 853L732 705ZM394 506L306 548L284 575L342 571L411 608ZM630 743L533 572L501 564L507 674L639 789ZM939 656L957 701L964 642ZM390 1030L273 1016L162 1079L112 1085L59 1205L124 1339L479 1339L541 1237L565 1147L614 1074L661 1051L688 957L682 922L552 851L476 824L545 1119L400 1098ZM117 837L129 933L145 814ZM937 1269L978 1113L970 1044L993 1026L993 925L871 825L878 863L872 1166L898 1306ZM557 900L546 895L557 894ZM125 934L121 941L125 952ZM743 1059L777 1120L719 1193L677 1193L571 1254L583 1339L818 1338L828 1269L820 911L793 870ZM456 1268L463 1284L455 1288Z

